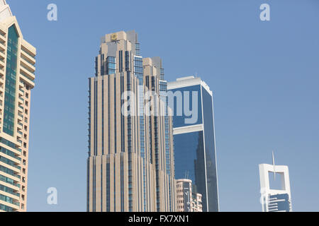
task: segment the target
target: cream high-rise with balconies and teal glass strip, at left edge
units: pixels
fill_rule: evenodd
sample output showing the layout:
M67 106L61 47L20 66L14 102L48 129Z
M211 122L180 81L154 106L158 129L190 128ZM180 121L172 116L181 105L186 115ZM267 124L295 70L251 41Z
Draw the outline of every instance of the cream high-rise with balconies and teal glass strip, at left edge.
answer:
M26 211L30 97L36 50L0 1L0 212Z

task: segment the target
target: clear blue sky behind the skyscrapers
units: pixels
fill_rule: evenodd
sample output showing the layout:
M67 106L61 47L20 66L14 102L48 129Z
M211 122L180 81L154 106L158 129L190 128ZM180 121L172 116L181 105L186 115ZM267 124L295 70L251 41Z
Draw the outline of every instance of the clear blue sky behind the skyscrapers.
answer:
M86 210L87 78L101 36L136 30L167 81L198 73L213 90L221 211L261 210L258 165L272 150L289 165L293 210L319 211L318 0L7 2L38 49L28 210ZM271 21L259 20L264 3Z

